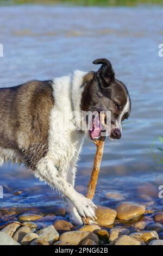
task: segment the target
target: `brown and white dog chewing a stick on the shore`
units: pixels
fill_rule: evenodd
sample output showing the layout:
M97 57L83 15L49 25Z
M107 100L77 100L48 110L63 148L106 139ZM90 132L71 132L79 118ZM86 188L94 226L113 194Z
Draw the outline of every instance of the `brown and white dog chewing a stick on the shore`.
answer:
M115 78L110 61L96 59L93 64L101 64L98 71L76 70L54 80L33 80L0 89L0 165L6 161L23 163L36 178L57 189L75 225L82 225L86 217L95 221L97 208L92 200L74 190L84 137L94 141L101 134L99 125L97 130L95 125L84 131L77 129L82 112L109 111L108 136L120 139L121 122L131 110L128 90ZM78 114L70 117L65 108L67 113ZM65 129L60 128L63 117Z

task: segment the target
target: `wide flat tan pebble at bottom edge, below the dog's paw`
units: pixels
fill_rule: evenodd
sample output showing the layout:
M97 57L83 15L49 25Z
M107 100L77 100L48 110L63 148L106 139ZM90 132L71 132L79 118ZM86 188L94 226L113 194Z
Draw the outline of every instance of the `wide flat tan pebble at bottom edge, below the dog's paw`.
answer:
M72 245L81 245L85 239L91 239L98 243L98 236L88 231L70 231L60 235L59 240L70 242Z

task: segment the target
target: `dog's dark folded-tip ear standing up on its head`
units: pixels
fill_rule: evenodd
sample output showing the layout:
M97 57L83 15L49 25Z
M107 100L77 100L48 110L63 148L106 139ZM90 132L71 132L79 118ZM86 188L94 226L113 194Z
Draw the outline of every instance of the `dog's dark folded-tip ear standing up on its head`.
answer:
M96 59L93 64L102 64L101 68L97 71L97 75L102 82L102 86L108 87L110 82L115 80L115 72L112 69L111 63L108 59Z

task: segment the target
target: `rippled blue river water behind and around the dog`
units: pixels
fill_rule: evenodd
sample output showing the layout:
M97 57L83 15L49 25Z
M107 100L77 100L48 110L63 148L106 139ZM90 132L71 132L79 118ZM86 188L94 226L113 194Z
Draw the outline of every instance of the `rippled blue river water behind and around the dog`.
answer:
M162 157L157 148L163 133L163 57L158 56L158 45L163 42L162 14L163 9L156 6L0 8L0 43L4 46L0 87L33 78L46 80L74 69L95 70L92 60L111 60L117 78L129 89L132 112L123 124L122 139L105 143L95 202L115 208L118 201L107 199L106 193L117 191L122 200L145 203L149 216L163 204L158 198L162 164L156 163ZM95 151L95 145L85 141L78 163L79 192L86 192ZM1 167L0 185L4 187L1 225L25 212L64 214L58 194L23 167ZM47 222L52 219L47 217Z

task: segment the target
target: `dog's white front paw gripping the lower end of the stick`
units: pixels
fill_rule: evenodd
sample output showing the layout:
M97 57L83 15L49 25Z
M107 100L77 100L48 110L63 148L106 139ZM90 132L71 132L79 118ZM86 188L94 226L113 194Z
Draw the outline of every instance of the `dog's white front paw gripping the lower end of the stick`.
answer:
M77 192L76 197L72 200L72 203L76 207L81 217L89 217L92 218L93 221L97 219L95 215L95 209L97 206L92 202L92 200L84 197L83 194Z

